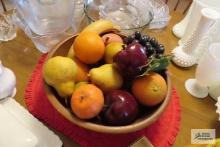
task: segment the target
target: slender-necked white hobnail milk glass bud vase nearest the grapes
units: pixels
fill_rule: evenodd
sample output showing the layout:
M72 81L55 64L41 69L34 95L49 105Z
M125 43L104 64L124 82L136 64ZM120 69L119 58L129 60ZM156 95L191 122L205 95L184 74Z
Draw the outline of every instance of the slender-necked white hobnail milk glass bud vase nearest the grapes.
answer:
M202 37L215 24L216 20L220 18L220 14L209 8L204 8L201 11L202 16L190 37L182 45L177 46L172 51L174 57L173 62L181 67L190 67L197 62L195 49Z

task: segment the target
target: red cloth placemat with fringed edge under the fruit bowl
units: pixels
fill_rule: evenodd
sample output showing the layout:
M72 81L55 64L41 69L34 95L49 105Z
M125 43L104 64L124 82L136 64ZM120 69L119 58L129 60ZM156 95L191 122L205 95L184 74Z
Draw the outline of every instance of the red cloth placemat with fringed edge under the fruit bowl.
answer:
M146 136L155 147L171 146L179 131L180 104L176 90L161 117L149 127L128 134L104 134L80 128L66 120L49 103L44 91L42 65L47 54L42 55L25 90L27 108L35 117L55 128L84 147L127 147L141 136Z

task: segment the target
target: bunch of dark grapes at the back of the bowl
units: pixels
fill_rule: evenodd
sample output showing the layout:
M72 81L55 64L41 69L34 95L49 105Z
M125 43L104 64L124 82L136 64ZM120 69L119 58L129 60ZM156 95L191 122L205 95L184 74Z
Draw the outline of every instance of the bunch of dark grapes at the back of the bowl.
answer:
M145 51L147 57L160 57L164 54L165 48L162 44L158 43L156 38L148 35L141 35L139 31L124 38L124 43L129 45L131 43L140 43Z

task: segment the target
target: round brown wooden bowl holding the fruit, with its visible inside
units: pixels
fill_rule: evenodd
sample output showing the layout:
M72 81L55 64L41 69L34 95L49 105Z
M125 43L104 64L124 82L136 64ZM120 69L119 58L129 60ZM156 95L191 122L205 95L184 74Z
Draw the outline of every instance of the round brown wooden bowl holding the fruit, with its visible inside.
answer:
M69 37L59 43L48 55L48 59L54 56L66 56L69 49L71 48L73 41L76 36ZM56 94L56 92L53 90L52 87L48 86L45 83L45 89L46 89L46 94L48 96L49 102L52 104L52 106L62 115L64 116L67 120L72 122L75 125L78 125L82 128L91 130L91 131L96 131L96 132L102 132L102 133L111 133L111 134L122 134L122 133L130 133L130 132L135 132L138 130L141 130L153 122L155 122L164 109L167 107L167 104L170 101L171 98L171 82L170 82L170 77L167 73L166 75L166 82L168 85L168 92L166 95L166 98L164 101L159 104L158 106L155 106L152 108L150 112L147 112L144 116L139 117L135 122L133 122L130 125L126 126L107 126L101 123L96 123L93 121L85 121L77 118L72 111L65 107L62 104L62 98L59 98L59 96Z

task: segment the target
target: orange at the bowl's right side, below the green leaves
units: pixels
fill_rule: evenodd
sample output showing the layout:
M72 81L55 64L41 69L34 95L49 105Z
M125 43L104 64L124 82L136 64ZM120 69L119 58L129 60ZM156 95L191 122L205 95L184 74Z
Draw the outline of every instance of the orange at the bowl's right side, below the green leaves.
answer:
M133 81L132 93L141 104L155 106L165 98L167 84L160 74L151 72Z

